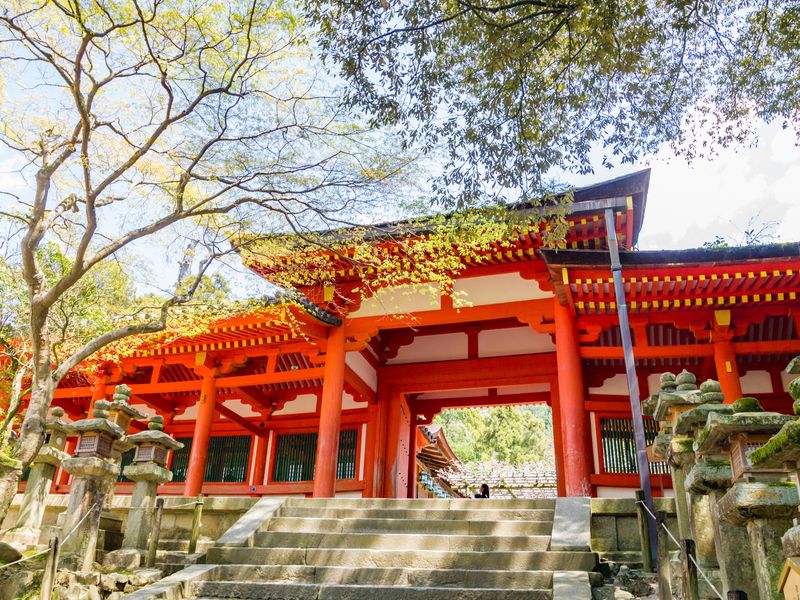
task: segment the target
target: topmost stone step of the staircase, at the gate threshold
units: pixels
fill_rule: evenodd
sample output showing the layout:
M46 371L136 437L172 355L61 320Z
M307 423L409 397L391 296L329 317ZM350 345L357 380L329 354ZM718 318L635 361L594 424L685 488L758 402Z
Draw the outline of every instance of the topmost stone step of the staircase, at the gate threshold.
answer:
M287 498L285 507L301 508L389 508L431 510L465 510L465 509L502 509L502 510L534 510L555 508L553 498L531 498L517 500L473 499L473 498Z

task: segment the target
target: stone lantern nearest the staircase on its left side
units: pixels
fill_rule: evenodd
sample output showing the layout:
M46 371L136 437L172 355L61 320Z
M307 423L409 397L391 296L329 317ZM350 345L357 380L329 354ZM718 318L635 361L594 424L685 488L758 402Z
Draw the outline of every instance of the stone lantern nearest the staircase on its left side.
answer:
M123 475L135 481L136 485L131 497L122 549L106 555L107 566L133 569L141 564L142 551L147 546L150 533L158 485L172 480L172 471L166 467L167 458L170 451L183 448L183 444L164 433L163 428L164 418L156 415L150 419L146 431L126 438L127 445L135 448L135 453L133 462L125 467Z

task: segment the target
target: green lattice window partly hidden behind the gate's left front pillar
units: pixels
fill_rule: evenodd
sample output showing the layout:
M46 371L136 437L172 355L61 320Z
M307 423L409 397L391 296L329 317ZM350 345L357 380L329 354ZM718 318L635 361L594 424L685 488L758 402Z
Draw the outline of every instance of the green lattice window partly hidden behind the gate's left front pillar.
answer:
M355 479L358 457L358 430L343 429L339 433L337 479ZM275 442L275 467L272 481L294 482L314 479L317 460L317 432L282 433Z

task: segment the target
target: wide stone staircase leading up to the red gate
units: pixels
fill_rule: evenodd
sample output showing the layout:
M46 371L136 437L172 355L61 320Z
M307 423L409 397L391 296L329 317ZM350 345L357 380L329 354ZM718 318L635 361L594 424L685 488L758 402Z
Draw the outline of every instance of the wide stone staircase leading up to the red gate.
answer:
M183 594L203 600L588 600L590 580L599 584L599 574L587 575L597 556L588 547L562 549L563 540L552 548L555 503L290 498L266 519L251 516L256 524L242 539L220 538L206 555L203 576L187 579Z

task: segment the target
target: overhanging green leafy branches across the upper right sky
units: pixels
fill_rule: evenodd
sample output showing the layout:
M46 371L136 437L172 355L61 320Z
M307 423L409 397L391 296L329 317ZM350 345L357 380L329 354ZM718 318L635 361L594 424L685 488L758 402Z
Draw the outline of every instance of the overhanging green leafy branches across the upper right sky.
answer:
M443 150L444 203L530 199L665 144L688 158L796 128L800 9L763 2L307 2L348 99Z

